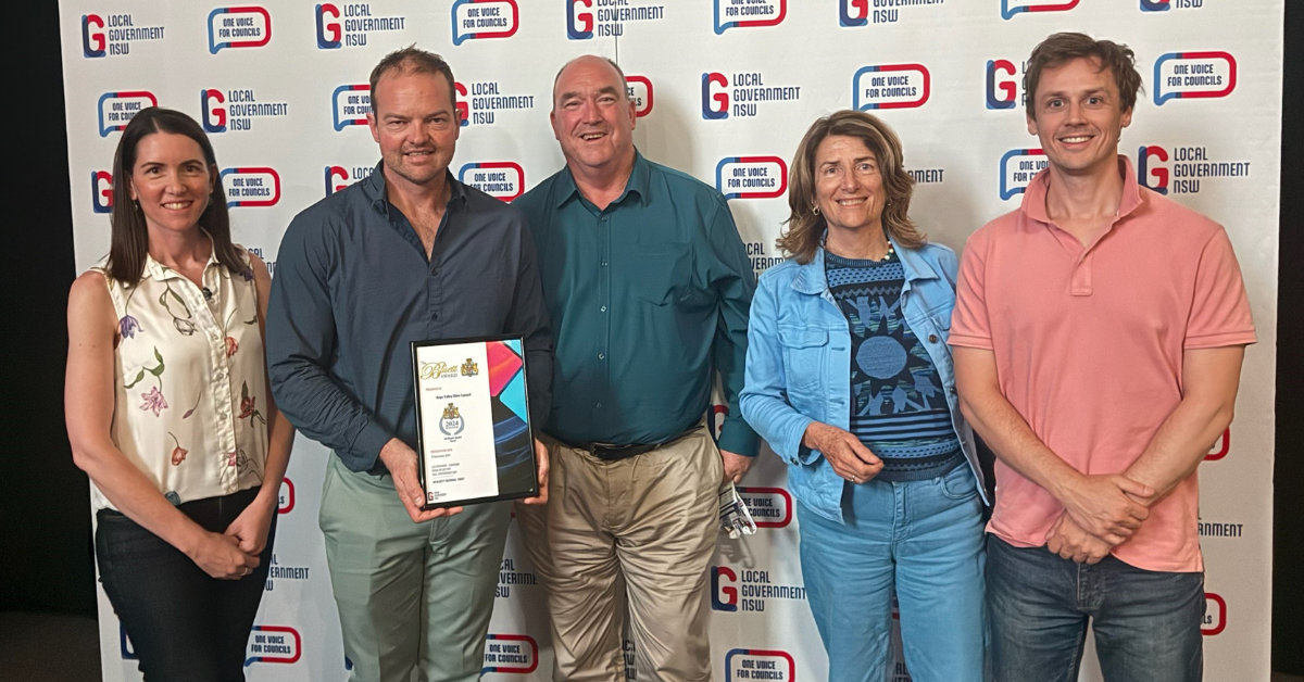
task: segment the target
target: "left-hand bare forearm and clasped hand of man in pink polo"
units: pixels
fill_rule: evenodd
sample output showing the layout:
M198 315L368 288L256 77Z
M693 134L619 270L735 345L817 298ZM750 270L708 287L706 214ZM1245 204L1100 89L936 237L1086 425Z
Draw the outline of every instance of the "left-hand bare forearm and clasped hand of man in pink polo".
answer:
M955 347L952 356L960 409L1005 466L1046 489L1078 526L1110 544L1141 527L1149 511L1134 498L1153 496L1150 486L1123 475L1080 473L1046 447L1005 399L992 351Z

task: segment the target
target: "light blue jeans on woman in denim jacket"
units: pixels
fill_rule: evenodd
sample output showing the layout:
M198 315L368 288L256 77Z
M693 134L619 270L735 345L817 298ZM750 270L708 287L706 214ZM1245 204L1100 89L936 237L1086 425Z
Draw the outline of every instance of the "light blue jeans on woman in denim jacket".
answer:
M846 484L845 526L797 510L831 681L889 679L895 588L910 678L982 682L982 501L968 464L922 481Z

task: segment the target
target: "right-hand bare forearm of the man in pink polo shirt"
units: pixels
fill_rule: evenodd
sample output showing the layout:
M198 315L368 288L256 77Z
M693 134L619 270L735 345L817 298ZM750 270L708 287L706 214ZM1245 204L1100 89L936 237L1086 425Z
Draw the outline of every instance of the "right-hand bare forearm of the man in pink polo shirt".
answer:
M1193 348L1181 357L1181 402L1163 420L1127 476L1154 488L1153 505L1194 473L1209 446L1231 424L1244 346Z

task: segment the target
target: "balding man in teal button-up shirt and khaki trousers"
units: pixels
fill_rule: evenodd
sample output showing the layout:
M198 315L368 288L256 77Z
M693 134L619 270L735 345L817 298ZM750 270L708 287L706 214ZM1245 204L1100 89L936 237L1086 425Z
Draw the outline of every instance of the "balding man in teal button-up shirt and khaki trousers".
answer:
M756 454L738 393L755 275L725 198L644 159L614 63L553 86L566 168L515 202L557 339L546 509L522 510L549 592L557 679L623 679L617 574L640 673L709 679L703 591L717 492ZM719 370L719 449L704 413Z

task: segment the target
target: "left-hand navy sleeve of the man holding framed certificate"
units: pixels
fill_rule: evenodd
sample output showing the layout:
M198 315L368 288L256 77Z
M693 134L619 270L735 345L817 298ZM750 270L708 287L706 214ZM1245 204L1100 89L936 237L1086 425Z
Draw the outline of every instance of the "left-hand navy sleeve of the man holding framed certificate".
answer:
M394 433L329 372L336 352L331 219L309 209L280 241L267 305L267 374L276 407L296 429L351 471L368 471Z

